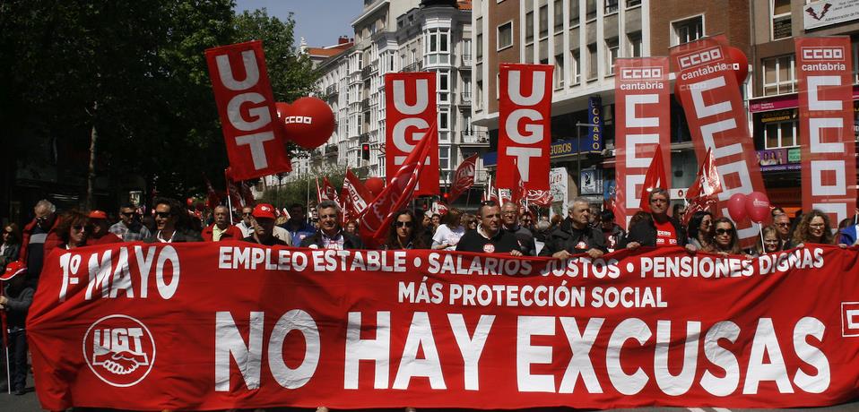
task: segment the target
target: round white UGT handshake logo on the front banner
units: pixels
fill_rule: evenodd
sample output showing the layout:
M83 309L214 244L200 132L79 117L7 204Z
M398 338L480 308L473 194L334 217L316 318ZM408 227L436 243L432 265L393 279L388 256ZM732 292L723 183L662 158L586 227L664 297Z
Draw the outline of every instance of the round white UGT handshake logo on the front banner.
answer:
M155 340L143 322L112 314L86 331L83 357L100 380L118 387L134 386L152 371Z

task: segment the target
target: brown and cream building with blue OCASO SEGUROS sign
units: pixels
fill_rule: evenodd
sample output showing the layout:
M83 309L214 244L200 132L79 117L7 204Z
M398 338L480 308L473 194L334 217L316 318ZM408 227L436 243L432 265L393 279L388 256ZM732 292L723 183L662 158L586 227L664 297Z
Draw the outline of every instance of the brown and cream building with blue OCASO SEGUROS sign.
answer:
M616 59L668 56L670 47L715 34L748 51L744 10L748 3L739 0L474 0L473 119L489 128L485 164L494 167L498 147L499 63L553 64L552 167L568 173L568 198L584 194L603 202L614 179ZM602 115L601 152L579 149L593 129L583 125L593 124L589 105ZM672 187L685 189L698 164L682 108L673 99L671 111Z

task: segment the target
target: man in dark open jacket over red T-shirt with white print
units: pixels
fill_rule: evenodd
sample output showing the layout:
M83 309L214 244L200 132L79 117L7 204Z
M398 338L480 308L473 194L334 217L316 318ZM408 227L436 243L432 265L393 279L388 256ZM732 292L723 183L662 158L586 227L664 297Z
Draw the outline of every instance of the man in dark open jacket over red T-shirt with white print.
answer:
M618 248L634 250L639 246L685 246L686 250L695 252L695 245L686 243L686 230L679 221L668 216L668 205L671 203L668 191L662 187L654 188L647 195L647 202L650 216L629 227L629 235L620 241Z

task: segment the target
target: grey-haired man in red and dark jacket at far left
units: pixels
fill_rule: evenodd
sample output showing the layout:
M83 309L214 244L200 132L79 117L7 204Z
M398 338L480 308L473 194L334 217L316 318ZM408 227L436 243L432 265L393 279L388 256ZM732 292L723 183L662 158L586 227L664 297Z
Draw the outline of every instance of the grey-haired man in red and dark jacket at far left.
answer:
M18 260L26 265L30 277L38 279L45 256L63 241L56 233L60 219L56 217L54 203L44 199L37 202L33 214L36 215L35 218L23 230L21 256Z

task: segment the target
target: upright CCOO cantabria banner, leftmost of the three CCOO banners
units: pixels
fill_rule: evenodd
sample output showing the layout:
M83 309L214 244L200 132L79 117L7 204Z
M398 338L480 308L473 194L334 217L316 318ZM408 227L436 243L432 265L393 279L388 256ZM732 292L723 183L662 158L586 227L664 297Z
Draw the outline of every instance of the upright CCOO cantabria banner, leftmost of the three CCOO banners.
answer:
M662 150L664 169L671 170L671 93L668 57L620 58L616 64L618 76L614 91L618 130L614 212L618 225L627 229L629 219L641 210L642 185L657 148Z

